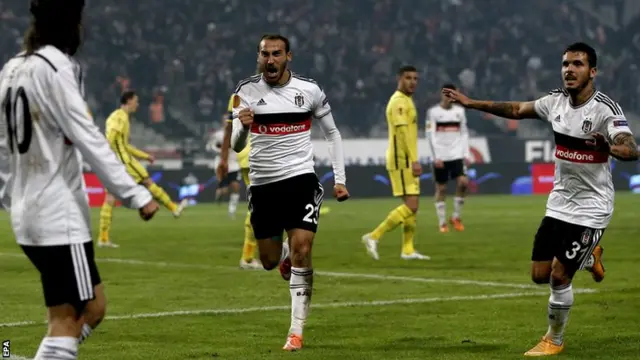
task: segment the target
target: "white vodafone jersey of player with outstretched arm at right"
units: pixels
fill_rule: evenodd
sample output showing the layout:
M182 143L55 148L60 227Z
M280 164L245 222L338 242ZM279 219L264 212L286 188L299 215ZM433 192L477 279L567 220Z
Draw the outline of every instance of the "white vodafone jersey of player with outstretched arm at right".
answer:
M553 90L535 102L540 118L553 126L556 143L555 178L546 215L568 223L601 229L613 213L614 188L607 152L586 145L599 132L609 141L631 134L620 106L596 91L583 105L571 105L569 94Z

